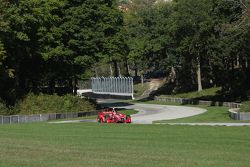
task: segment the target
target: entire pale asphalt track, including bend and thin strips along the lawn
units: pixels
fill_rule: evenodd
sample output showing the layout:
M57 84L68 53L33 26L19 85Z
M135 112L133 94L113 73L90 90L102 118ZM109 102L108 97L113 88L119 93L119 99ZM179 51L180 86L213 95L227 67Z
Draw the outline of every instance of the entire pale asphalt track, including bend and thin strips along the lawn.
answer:
M184 107L184 106L167 106L156 104L127 104L120 103L116 100L98 100L99 104L107 107L117 107L134 109L139 111L137 114L131 115L133 124L152 124L153 121L158 120L171 120L177 118L190 117L206 112L205 109L197 107ZM49 123L76 123L76 122L97 122L96 120L67 120L56 121ZM167 125L189 125L189 126L250 126L250 123L156 123Z

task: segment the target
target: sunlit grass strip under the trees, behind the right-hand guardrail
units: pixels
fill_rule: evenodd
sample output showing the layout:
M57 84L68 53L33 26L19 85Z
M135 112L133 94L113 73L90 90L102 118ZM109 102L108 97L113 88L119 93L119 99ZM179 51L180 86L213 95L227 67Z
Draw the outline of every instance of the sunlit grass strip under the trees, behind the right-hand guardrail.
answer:
M215 96L218 91L221 90L221 87L204 89L200 92L188 92L188 93L179 93L173 95L161 95L160 97L176 97L176 98L200 98L206 96Z

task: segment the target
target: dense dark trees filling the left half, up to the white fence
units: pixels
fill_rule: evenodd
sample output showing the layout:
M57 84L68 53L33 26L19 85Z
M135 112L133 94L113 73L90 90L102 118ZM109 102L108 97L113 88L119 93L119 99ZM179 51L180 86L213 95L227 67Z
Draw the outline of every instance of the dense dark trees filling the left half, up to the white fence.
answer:
M122 24L114 0L0 0L0 97L75 92L94 63L121 54Z

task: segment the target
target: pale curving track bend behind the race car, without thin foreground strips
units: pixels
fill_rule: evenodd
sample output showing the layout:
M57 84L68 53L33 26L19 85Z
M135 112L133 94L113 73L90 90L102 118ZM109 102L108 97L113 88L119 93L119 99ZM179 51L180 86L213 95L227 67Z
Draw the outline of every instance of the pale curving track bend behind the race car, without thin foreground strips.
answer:
M98 100L100 104L109 104L110 107L118 107L116 101L112 100ZM205 109L197 107L183 107L183 106L167 106L157 104L142 104L137 103L133 105L123 105L120 108L134 109L139 111L137 114L131 115L132 122L135 124L152 124L153 121L170 120L177 118L190 117L206 112Z

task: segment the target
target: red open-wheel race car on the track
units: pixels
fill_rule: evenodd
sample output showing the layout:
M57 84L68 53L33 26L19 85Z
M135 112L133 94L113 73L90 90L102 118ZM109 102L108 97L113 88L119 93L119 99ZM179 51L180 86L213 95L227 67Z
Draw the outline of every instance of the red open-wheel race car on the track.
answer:
M100 123L131 123L131 117L118 113L115 108L107 108L98 112L97 121Z

